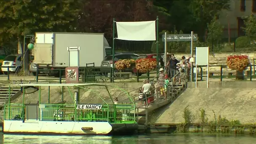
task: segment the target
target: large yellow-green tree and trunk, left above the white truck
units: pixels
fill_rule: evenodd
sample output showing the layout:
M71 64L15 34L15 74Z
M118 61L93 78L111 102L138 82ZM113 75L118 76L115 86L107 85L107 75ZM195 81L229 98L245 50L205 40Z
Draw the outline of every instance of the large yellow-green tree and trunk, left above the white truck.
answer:
M75 27L80 2L74 0L9 0L0 1L0 43L40 31L69 32ZM27 44L26 44L27 45ZM27 51L27 46L25 46ZM24 51L23 51L24 53ZM25 71L28 72L25 53Z

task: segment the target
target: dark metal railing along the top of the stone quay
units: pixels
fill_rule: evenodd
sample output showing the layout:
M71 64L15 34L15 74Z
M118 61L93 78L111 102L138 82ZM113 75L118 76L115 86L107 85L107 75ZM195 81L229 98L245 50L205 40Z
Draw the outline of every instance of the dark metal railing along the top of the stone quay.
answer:
M204 70L207 66L198 66L197 69L197 79L198 80L204 80L207 77L207 72ZM227 65L209 65L210 71L209 71L209 78L213 79L219 79L222 81L223 79L230 79L230 78L236 78L240 75L240 73L237 73L235 71L227 70ZM212 67L215 68L215 70L211 70ZM97 67L87 67L79 69L79 80L80 83L102 83L102 82L122 82L122 80L132 80L134 82L140 82L140 80L145 79L152 79L157 76L155 71L147 72L141 76L138 76L138 74L132 74L132 72L115 72L115 75L112 76L112 69L109 69L109 73L102 73L99 71L99 68ZM195 66L194 66L195 69ZM49 69L50 70L50 69ZM64 71L65 69L55 69L53 71L59 71L58 75L55 75L55 77L46 77L45 75L40 75L40 72L43 72L45 70L38 70L37 74L35 75L35 81L51 81L56 80L58 83L62 83L63 80L65 80ZM241 75L242 76L242 75ZM248 70L245 70L243 73L243 76L247 80L253 80L256 78L256 64L251 64L248 67ZM13 80L11 78L11 75L8 73L8 75L2 75L2 77L6 77L6 80ZM194 80L195 80L195 70L194 70ZM55 82L56 83L56 82Z

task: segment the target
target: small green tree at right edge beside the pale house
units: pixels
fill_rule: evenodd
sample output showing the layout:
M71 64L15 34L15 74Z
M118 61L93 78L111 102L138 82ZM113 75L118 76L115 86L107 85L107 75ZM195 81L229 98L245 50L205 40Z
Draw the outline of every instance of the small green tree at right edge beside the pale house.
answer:
M253 39L256 38L256 17L251 14L247 19L244 20L245 27L242 27L245 34Z

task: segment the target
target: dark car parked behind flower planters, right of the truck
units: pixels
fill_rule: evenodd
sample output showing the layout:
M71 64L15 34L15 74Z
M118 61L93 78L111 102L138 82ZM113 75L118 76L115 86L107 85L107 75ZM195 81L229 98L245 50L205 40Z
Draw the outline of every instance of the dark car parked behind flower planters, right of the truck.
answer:
M113 55L106 56L105 59L101 62L101 72L104 74L107 74L110 72L110 67L112 67L112 64L115 64L115 61L118 61L119 59L134 59L136 60L139 55L135 53L117 53L115 54L115 60L112 59ZM109 68L109 69L104 69ZM117 70L116 70L117 72ZM133 68L125 69L124 72L133 72Z

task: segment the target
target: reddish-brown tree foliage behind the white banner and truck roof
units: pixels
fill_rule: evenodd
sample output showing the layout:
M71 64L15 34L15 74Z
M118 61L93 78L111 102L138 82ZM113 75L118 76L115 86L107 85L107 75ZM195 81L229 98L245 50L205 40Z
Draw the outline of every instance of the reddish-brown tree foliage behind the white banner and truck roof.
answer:
M115 21L155 20L157 12L154 10L148 0L87 0L81 7L77 31L101 32L110 39L113 18Z

